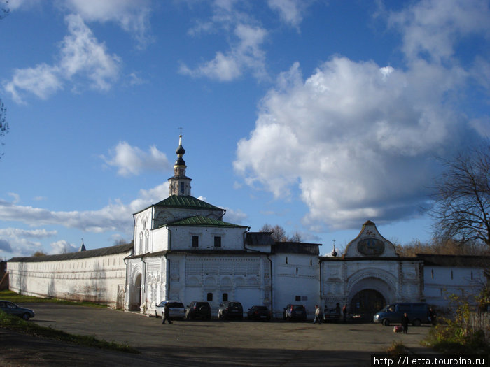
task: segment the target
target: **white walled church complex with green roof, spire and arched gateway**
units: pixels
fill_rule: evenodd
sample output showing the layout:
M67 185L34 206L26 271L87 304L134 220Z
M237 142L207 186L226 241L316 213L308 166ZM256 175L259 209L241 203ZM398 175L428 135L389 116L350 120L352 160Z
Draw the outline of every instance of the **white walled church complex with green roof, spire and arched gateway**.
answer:
M223 220L225 210L191 195L180 136L169 196L134 213L129 245L8 261L9 287L41 297L107 303L148 315L165 299L222 301L247 310L266 305L281 317L289 303L349 305L370 317L388 303L448 305L449 293L477 294L486 282L482 257L401 258L373 222L342 256L319 256L316 243L276 243L271 233ZM85 249L83 249L85 250Z

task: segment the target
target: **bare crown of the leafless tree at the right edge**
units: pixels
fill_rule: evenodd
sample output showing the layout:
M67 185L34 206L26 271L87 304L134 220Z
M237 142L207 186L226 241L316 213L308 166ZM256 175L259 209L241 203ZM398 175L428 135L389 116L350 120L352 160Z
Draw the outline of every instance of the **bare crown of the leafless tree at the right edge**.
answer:
M435 236L490 247L490 145L442 162L446 170L436 180L430 210Z

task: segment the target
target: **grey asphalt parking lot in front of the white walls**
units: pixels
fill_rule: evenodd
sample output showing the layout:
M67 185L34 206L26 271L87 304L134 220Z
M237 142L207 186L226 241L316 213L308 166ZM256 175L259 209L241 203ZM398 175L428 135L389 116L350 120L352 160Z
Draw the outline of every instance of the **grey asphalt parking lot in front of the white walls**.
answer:
M50 343L48 340L30 340L1 331L2 340L19 338L18 343L30 340L32 345L38 345L37 364L22 364L22 356L18 356L15 363L10 361L10 366L370 366L370 354L384 352L393 341L401 341L414 354L430 352L420 345L429 326L411 327L403 335L379 324L212 319L175 320L172 325L162 325L162 319L111 309L50 303L23 306L36 312L29 322L130 345L141 354L48 346L42 345ZM15 347L15 343L10 345ZM32 348L36 347L28 346L27 350ZM51 357L41 355L41 350L49 354L51 349ZM63 354L56 356L56 350ZM59 360L59 364L48 358ZM3 359L3 363L7 362Z

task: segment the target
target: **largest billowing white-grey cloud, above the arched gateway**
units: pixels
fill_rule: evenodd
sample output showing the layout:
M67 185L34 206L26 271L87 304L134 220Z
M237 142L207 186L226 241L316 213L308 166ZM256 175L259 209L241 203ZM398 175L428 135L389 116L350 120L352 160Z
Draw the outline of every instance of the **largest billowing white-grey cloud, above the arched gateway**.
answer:
M307 78L297 63L281 74L262 100L255 129L237 145L236 171L278 199L298 187L311 229L418 215L438 170L433 157L487 131L484 118L468 121L454 103L475 69L470 73L449 57L454 34L486 34L489 26L472 26L445 4L422 1L390 18L405 36L404 69L337 56ZM486 11L481 2L464 4L456 8ZM434 31L440 42L428 43L428 33L417 27L444 28Z

